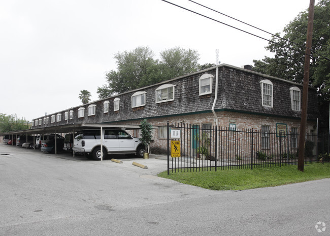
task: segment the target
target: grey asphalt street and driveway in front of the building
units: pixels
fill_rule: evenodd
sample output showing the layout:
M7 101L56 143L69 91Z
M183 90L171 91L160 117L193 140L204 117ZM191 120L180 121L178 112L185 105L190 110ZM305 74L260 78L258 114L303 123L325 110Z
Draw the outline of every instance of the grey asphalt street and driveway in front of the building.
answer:
M330 235L330 179L212 191L158 178L166 168L1 143L0 235Z

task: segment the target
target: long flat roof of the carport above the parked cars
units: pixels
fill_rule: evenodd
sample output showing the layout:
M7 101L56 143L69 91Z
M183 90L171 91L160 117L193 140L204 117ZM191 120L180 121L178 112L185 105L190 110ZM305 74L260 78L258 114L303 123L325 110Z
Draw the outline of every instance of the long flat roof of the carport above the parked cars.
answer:
M122 129L122 130L134 130L140 129L140 125L109 125L109 124L65 124L65 125L58 125L52 127L45 127L39 129L28 129L28 130L19 130L19 131L11 131L7 133L1 133L2 135L5 134L40 134L40 133L71 133L73 131L77 131L80 129L92 129L92 128L114 128L114 129Z

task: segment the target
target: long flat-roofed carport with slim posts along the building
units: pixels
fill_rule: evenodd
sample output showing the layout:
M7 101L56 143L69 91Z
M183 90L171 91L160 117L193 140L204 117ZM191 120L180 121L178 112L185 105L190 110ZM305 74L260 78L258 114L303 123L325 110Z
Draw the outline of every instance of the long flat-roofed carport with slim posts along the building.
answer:
M20 131L11 131L7 133L2 133L2 135L12 135L12 139L14 135L32 135L34 136L34 149L36 147L36 140L35 137L37 134L42 134L44 137L44 134L56 134L58 133L75 133L82 129L100 129L101 134L103 132L103 128L112 128L112 129L119 129L119 130L138 130L140 129L140 125L110 125L110 124L66 124L66 125L58 125L58 126L51 126L51 127L44 127L44 128L36 128L36 129L28 129L28 130L20 130ZM26 138L27 139L27 138ZM12 145L14 145L14 142L12 142ZM101 146L103 146L103 136L101 135ZM56 141L55 141L55 154L57 154L56 150ZM74 154L75 155L75 154ZM103 149L101 149L101 156L103 157ZM102 158L101 158L102 161Z

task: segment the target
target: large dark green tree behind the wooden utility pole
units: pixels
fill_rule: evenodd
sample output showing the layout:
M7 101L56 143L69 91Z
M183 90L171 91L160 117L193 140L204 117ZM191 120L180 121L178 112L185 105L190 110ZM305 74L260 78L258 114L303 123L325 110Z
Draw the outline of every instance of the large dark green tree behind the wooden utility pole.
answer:
M252 70L279 78L302 83L304 78L305 46L307 38L308 11L301 12L277 33L266 47L274 57L265 56L254 60ZM320 0L315 6L310 85L317 87L319 101L329 101L330 90L330 0Z

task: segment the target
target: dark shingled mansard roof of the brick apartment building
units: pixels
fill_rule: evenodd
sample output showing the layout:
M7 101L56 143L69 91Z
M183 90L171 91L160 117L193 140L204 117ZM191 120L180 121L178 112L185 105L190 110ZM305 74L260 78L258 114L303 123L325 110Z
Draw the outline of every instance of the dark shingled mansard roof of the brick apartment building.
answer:
M148 119L152 117L166 117L185 115L193 113L211 112L215 99L216 69L218 68L218 96L215 111L236 111L253 114L283 116L288 118L300 118L300 111L292 111L290 88L295 86L303 91L301 84L288 80L260 74L239 67L221 64L202 71L163 81L161 83L142 87L137 90L128 91L106 99L90 102L74 108L65 109L61 112L73 110L73 119L53 124L42 124L42 126L63 125L66 123L112 123L119 121L130 121L137 119ZM199 80L201 76L210 74L212 76L212 93L200 96ZM273 107L264 107L261 103L260 81L270 80L273 83ZM156 103L156 90L174 86L174 100ZM137 93L139 92L139 93ZM143 93L141 93L143 92ZM145 94L145 105L132 108L131 96L134 94ZM114 111L113 101L120 99L119 110ZM319 116L317 106L317 94L315 88L309 88L308 94L308 119L316 119ZM103 105L109 101L109 111L104 112ZM87 107L96 105L95 115L87 115ZM83 118L77 117L78 109L84 107ZM49 114L47 116L51 116ZM38 120L46 116L38 117ZM37 127L36 127L37 128Z

